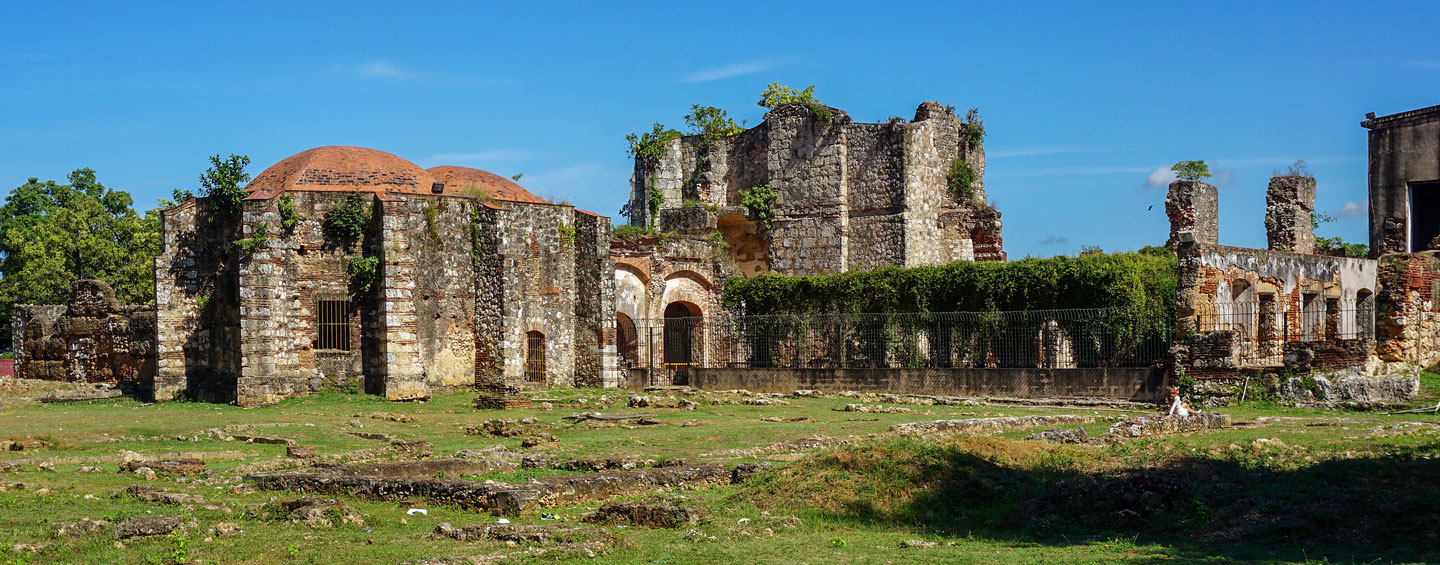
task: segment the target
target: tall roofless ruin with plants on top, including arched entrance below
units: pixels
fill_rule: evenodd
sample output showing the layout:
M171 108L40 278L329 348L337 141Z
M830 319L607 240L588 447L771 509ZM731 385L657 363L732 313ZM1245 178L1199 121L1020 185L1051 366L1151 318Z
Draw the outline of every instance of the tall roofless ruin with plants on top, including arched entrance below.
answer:
M675 137L660 159L636 159L629 222L655 233L611 246L624 365L671 370L723 353L700 321L721 314L730 275L1005 261L982 137L936 102L881 124L785 104L739 134ZM766 213L744 202L757 186L775 195Z

